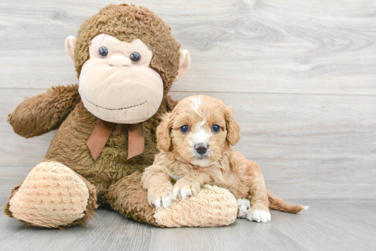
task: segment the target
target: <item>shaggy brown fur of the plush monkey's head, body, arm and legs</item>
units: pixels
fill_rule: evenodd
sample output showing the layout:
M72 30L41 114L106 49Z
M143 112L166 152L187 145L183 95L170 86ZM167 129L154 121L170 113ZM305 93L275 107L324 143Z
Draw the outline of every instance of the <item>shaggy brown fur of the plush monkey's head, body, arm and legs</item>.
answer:
M14 131L26 138L58 129L44 160L64 164L81 175L85 183L87 182L90 190L88 217L97 207L97 203L108 202L127 217L155 224L152 217L154 211L149 208L147 202L142 204L138 193L127 194L127 190L119 188L124 188L124 184L132 182L129 179L135 177L123 179L127 175L136 171L142 172L153 163L154 155L158 152L155 131L160 117L176 105L176 101L172 100L167 92L177 74L180 44L172 37L170 30L162 19L148 9L125 4L110 5L81 25L74 49L77 76L83 63L89 58L90 40L101 33L127 42L139 38L153 52L150 67L158 72L163 80L164 96L158 111L142 123L145 137L143 154L127 160L127 125L117 124L97 161L93 160L86 142L98 118L83 106L78 94L78 85L53 87L44 94L26 99L9 115L8 121ZM90 184L96 189L96 194ZM141 186L134 189L142 190ZM127 208L135 204L137 210ZM5 213L12 216L9 206L6 206ZM84 216L72 224L82 223L86 218Z

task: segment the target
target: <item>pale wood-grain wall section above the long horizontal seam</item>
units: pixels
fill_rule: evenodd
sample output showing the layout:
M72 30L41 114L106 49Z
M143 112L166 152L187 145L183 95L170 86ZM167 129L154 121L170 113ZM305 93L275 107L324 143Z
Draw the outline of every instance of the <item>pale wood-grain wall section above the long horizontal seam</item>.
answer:
M122 1L112 1L122 3ZM77 82L64 40L105 1L0 4L2 87ZM175 91L376 94L376 2L138 1L191 52ZM17 82L16 82L17 81ZM16 84L17 83L17 84Z

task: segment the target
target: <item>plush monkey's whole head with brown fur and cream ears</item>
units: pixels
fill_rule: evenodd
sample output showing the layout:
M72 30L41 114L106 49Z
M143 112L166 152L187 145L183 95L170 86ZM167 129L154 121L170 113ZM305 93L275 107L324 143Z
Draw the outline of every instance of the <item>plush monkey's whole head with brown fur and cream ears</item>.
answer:
M109 122L138 123L158 110L190 66L171 28L148 9L110 5L87 19L65 48L88 111Z

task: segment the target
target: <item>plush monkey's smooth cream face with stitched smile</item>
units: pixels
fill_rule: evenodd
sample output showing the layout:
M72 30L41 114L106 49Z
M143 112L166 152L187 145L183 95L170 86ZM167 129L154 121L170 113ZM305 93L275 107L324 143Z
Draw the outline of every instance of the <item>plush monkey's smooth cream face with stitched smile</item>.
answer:
M78 88L88 111L105 121L130 124L155 114L163 98L163 81L149 67L153 53L140 39L128 43L100 34L91 40L89 55Z

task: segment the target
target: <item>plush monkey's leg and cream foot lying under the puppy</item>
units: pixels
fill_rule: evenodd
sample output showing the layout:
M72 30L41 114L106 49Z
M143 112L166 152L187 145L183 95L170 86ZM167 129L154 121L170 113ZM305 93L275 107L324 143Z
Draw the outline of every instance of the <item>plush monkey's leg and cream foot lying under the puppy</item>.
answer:
M126 217L160 227L223 226L235 221L238 204L232 193L204 185L194 197L173 202L169 208L149 205L141 185L141 173L133 173L110 186L107 202Z

